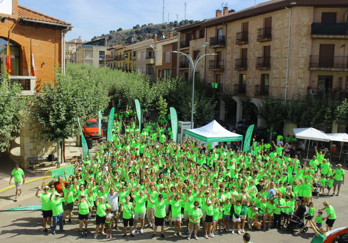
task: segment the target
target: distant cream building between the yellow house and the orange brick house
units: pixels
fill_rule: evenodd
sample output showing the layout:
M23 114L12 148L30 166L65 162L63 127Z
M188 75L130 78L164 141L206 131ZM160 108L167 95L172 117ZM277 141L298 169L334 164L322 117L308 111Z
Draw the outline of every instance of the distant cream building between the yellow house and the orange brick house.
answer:
M157 78L162 77L162 46L177 42L178 37L173 37L173 33L170 32L168 39L157 41L157 35L155 34L154 42L152 44L141 45L132 49L135 52L135 58L133 60L133 68L137 73L146 73L149 75L151 81L155 81Z

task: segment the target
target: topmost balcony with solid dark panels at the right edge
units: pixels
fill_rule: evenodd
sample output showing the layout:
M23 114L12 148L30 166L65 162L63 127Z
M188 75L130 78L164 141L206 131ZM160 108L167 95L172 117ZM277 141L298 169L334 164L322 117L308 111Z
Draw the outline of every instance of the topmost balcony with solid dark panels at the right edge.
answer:
M348 39L346 23L312 23L312 39Z

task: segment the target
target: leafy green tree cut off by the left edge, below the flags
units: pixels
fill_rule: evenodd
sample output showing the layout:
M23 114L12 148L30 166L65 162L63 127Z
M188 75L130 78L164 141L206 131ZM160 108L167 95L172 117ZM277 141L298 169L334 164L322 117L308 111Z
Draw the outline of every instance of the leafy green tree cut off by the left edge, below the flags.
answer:
M6 75L0 78L0 151L5 152L16 138L13 133L19 131L27 118L27 99L21 97L19 83L8 81Z

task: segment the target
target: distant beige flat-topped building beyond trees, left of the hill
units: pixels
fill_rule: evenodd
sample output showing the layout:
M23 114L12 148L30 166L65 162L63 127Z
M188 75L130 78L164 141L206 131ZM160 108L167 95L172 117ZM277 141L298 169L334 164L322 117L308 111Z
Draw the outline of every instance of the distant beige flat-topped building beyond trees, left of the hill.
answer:
M93 65L97 67L105 66L106 39L98 39L85 42L76 51L76 63Z

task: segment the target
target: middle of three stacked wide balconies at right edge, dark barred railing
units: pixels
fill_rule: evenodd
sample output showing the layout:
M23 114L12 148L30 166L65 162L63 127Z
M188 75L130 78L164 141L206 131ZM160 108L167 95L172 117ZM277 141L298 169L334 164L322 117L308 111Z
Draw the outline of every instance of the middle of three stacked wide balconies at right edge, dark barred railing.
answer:
M348 56L309 56L309 70L348 71Z

